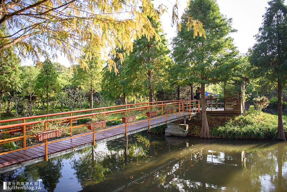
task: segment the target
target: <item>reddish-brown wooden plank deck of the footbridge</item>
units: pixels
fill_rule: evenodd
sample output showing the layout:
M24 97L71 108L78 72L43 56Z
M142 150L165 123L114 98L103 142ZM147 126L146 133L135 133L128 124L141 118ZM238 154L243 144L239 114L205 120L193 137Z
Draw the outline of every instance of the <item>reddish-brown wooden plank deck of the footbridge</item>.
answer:
M195 115L197 115L197 113L192 114L191 116L195 116ZM189 116L187 112L185 112L184 114L183 112L181 112L181 118L186 117L186 116ZM150 119L151 128L164 125L166 123L165 116L158 117L155 119L153 118L154 117ZM167 117L168 123L174 122L176 120L179 120L178 113L170 114ZM139 121L142 121L142 120L139 120ZM137 122L137 123L127 125L128 135L138 133L138 132L148 129L148 120L143 121L143 122L138 122L138 121L134 121L134 122ZM125 126L124 126L125 124L122 124L122 125L123 126L121 127L96 132L95 133L96 144L110 141L113 139L117 139L120 137L124 137L125 136ZM111 127L116 127L116 126L111 126ZM110 127L106 127L106 128L110 128ZM78 134L78 135L82 135L82 134L83 133ZM84 149L86 147L90 147L92 143L93 143L92 134L82 135L79 137L75 137L75 138L71 138L71 139L67 139L63 141L49 143L48 144L48 159L55 158L57 156L64 155L67 153L71 153L73 151L77 151L80 149ZM0 155L0 173L44 161L44 156L45 156L44 145Z

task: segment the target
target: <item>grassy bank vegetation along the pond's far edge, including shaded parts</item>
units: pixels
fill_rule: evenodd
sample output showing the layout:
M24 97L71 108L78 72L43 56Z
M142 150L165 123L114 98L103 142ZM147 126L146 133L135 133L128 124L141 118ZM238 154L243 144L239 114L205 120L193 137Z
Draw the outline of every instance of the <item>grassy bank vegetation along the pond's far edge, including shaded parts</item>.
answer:
M183 123L183 120L176 123ZM201 120L187 121L189 135L198 137ZM208 125L212 137L224 139L277 139L278 115L268 114L254 109L247 116L224 117L208 116ZM283 115L285 137L287 137L287 114Z

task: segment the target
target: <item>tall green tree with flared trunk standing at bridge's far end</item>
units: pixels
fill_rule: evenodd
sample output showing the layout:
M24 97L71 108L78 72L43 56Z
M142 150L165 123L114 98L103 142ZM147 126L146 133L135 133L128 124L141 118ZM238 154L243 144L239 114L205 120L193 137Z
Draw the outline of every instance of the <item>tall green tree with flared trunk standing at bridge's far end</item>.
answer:
M203 23L206 38L202 35L194 37L193 29L186 27L190 17ZM235 30L231 27L231 19L220 14L214 0L191 0L181 20L181 31L177 31L172 41L172 57L177 65L174 73L177 73L178 78L186 79L189 84L201 84L200 137L210 138L205 109L205 85L226 81L232 76L232 69L238 64L238 51L229 34Z

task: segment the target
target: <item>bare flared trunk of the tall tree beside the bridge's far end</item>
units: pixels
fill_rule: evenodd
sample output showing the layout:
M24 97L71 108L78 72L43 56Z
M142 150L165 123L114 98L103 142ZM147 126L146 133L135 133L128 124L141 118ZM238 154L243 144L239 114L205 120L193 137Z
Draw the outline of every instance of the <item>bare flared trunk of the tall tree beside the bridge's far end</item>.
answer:
M201 126L199 137L210 138L209 126L207 122L206 108L205 108L205 84L204 83L201 83L201 115L202 115L202 126Z

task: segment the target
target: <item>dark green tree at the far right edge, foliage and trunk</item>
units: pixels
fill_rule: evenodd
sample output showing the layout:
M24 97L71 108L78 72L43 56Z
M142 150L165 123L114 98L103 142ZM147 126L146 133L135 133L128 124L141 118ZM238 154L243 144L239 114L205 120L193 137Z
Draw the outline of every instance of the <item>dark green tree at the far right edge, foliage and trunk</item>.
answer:
M278 91L277 139L286 140L282 120L282 87L287 82L287 6L283 0L269 1L263 25L250 50L249 61L255 73L272 82Z

